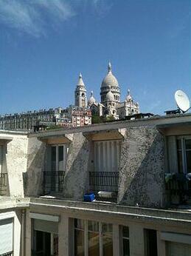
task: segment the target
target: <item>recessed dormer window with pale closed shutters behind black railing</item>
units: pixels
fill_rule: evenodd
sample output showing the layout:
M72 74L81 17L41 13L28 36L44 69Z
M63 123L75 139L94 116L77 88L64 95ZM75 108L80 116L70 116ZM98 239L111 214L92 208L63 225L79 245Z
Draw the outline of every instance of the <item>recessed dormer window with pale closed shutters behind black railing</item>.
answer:
M111 192L117 195L121 146L123 131L121 129L104 132L84 132L91 141L91 161L89 164L89 190ZM98 194L101 198L101 195Z

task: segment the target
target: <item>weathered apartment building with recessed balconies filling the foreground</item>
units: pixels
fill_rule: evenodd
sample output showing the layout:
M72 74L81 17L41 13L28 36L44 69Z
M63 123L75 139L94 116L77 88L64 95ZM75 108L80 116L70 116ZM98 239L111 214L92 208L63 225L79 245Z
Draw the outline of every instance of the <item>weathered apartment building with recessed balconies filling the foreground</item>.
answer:
M190 152L190 114L1 130L0 255L191 255Z

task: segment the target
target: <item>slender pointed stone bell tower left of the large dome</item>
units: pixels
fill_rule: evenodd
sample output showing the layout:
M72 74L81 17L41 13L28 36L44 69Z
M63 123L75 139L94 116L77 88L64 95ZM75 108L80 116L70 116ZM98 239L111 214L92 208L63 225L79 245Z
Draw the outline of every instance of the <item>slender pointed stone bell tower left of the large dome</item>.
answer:
M81 73L79 75L77 87L75 90L75 106L87 107L86 87L83 83L83 76Z

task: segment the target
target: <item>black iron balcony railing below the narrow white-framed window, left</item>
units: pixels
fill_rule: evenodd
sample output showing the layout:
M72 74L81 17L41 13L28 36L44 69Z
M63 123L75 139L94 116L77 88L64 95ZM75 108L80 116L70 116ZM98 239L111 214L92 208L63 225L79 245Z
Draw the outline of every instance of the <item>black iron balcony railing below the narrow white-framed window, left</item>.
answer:
M44 195L63 192L65 172L44 171Z

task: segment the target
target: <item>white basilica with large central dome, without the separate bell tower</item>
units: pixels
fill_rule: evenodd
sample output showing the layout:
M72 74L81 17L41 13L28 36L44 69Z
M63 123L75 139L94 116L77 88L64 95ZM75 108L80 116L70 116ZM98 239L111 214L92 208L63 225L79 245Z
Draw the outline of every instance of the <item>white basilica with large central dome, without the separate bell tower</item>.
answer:
M120 87L109 62L108 73L100 88L101 102L96 101L92 91L91 97L88 99L88 107L90 107L92 115L113 116L115 119L122 119L127 115L138 114L139 104L133 101L130 90L123 102L120 102L120 95Z

